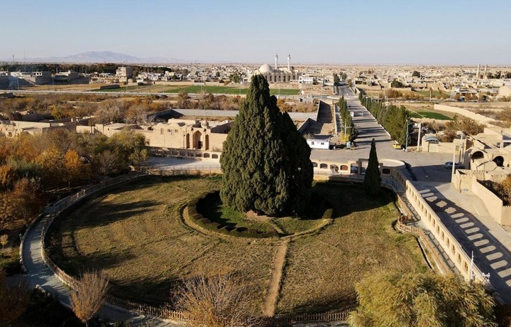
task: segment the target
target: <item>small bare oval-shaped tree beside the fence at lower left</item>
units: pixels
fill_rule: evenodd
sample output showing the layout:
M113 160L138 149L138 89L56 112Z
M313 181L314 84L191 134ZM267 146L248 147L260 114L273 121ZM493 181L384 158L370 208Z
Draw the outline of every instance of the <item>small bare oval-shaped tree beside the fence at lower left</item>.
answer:
M103 306L108 284L103 273L92 270L84 272L75 289L71 291L72 311L85 326L89 326L89 320Z

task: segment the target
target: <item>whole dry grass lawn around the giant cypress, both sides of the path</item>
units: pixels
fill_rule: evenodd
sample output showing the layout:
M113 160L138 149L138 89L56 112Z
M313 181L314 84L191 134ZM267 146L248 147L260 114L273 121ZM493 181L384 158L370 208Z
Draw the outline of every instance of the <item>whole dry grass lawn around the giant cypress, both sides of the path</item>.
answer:
M183 277L236 272L251 284L254 305L262 308L281 241L226 240L180 223L181 206L218 183L218 177L151 177L112 189L53 227L52 257L72 274L101 267L114 295L153 305L167 301ZM361 201L365 195L357 186L316 187L335 205L334 223L290 240L277 313L347 306L355 300L354 283L363 274L381 268L421 269L414 239L392 229L397 210L389 196Z

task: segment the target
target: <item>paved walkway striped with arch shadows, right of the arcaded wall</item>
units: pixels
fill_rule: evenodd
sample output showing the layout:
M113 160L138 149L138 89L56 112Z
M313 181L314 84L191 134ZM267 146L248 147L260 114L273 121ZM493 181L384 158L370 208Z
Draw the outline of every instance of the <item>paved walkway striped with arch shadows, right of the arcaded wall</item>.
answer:
M422 197L505 303L511 303L511 235L491 218L485 204L471 191L459 193L451 184L414 182Z

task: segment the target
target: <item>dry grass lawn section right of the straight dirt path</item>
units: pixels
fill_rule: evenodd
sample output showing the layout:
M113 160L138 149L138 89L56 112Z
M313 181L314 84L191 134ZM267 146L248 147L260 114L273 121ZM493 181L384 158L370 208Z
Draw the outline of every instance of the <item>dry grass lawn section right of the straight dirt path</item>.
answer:
M414 238L392 229L398 212L386 195L369 200L358 186L324 185L337 211L321 233L290 242L278 311L328 311L356 301L354 284L378 269L424 269Z

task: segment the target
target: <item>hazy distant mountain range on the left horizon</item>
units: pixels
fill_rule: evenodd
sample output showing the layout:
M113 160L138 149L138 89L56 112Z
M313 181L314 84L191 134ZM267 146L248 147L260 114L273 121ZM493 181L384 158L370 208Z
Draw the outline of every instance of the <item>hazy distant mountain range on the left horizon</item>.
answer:
M4 58L6 62L11 62L12 58ZM20 62L20 58L15 58ZM48 58L24 58L27 63L199 63L197 60L182 60L176 58L150 57L137 58L133 55L115 53L111 51L89 51L78 53L77 55L68 55L67 57L48 57Z

